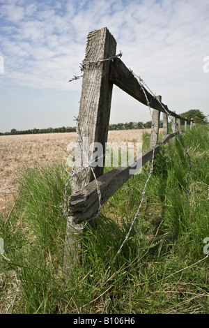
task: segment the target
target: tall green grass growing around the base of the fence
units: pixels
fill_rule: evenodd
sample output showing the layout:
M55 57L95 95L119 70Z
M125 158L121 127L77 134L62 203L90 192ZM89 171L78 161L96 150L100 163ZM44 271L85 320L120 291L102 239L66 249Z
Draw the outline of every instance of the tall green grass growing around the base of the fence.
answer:
M68 176L59 163L26 170L10 217L0 216L0 313L209 313L209 257L203 253L209 237L208 126L195 126L183 137L192 162L187 204L188 158L177 137L155 158L140 214L115 262L149 163L102 206L98 230L79 235L79 266L68 282ZM146 148L149 136L144 138Z

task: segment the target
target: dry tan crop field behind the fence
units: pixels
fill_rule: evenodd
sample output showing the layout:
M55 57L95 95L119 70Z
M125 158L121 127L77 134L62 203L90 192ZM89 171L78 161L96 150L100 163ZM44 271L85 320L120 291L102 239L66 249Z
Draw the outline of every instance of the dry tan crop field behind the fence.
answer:
M151 129L146 129L150 133ZM141 142L143 130L109 131L108 142ZM16 195L15 182L26 167L61 162L66 165L67 146L76 133L0 136L0 211L8 211Z

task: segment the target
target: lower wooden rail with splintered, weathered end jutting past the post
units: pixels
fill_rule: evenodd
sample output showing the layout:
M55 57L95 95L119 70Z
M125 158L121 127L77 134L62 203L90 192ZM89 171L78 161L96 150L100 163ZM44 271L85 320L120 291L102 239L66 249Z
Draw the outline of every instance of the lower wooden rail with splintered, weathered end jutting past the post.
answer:
M159 142L155 146L156 156L160 152L160 145L166 144L169 139L178 135L176 133L170 133L166 135L162 142ZM137 164L145 165L153 158L153 148L146 149L142 154L135 156L125 165L120 165L113 170L98 177L98 186L101 193L101 205L109 200L109 197L113 195L123 184L132 177L130 170L133 170ZM138 166L137 166L138 167ZM68 200L69 216L73 217L73 222L76 224L82 223L86 218L90 218L99 209L98 191L95 181L91 181L84 188L76 193L72 194Z

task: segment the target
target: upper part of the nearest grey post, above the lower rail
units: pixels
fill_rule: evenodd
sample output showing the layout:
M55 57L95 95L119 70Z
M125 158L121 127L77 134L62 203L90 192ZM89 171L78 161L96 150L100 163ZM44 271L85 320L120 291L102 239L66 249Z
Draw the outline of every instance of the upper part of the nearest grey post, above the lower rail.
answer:
M116 40L107 28L88 33L86 55L84 62L107 59L116 54ZM111 107L112 82L109 81L110 61L84 66L82 95L79 107L77 141L81 142L88 137L85 144L87 161L90 160L93 150L90 145L100 142L104 149L107 142L109 115ZM80 162L81 161L81 162ZM86 167L86 158L83 149L75 151L75 172ZM95 167L95 176L103 173L103 167ZM93 180L90 169L77 174L72 180L72 190L77 191Z

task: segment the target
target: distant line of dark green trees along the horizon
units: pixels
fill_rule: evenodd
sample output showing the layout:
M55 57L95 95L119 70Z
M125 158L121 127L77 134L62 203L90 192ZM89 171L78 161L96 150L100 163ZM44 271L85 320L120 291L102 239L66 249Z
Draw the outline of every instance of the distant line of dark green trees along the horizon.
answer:
M208 124L207 117L200 110L188 110L187 112L180 114L182 117L187 119L194 119L196 123ZM182 121L182 124L184 122ZM144 122L129 122L129 123L118 123L109 124L109 130L133 130L137 128L151 128L152 121ZM162 128L162 121L160 121L160 128ZM65 132L76 132L76 127L62 126L61 128L33 128L31 130L17 131L13 128L10 132L1 133L0 135L31 135L37 133L65 133Z

